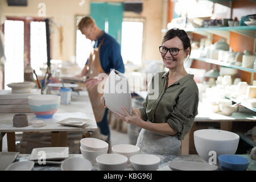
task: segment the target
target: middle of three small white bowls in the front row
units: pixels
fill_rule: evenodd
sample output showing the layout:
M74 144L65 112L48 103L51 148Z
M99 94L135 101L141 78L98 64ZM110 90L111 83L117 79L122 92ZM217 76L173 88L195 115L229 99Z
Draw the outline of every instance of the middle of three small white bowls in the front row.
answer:
M121 154L102 154L96 158L101 171L123 171L127 160L128 158Z

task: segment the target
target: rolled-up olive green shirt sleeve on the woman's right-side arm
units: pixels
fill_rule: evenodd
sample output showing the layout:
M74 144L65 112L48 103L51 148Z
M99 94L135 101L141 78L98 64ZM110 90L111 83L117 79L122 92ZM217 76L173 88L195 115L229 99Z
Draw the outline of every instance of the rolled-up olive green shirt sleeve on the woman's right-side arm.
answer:
M170 127L177 131L177 138L184 139L185 135L191 129L197 115L199 102L198 92L190 90L180 94L174 105L174 109L167 119Z

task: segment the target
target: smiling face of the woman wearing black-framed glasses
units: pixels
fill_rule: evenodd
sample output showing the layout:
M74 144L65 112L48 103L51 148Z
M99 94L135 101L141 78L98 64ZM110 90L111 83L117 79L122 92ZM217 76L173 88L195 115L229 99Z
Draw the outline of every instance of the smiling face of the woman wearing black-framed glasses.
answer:
M183 61L189 53L189 48L187 50L183 50L183 43L177 36L175 38L167 40L163 43L162 46L166 48L180 49L179 53L176 56L171 55L170 51L167 51L166 54L161 53L161 57L163 59L164 65L166 65L166 68L175 69L177 67L183 66Z

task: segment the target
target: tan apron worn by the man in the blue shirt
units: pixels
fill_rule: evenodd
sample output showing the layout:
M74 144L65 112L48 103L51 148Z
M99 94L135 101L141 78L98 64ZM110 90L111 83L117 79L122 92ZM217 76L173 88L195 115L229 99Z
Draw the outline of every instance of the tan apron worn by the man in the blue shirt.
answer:
M87 67L89 69L88 73L86 74L86 76L88 77L97 77L100 73L105 73L105 71L101 67L100 61L100 47L103 42L104 39L100 42L98 47L94 48L93 51L90 53L87 64ZM100 98L101 96L103 96L103 93L99 93L97 88L98 86L96 85L92 89L88 89L88 95L90 98L90 103L92 104L92 109L96 122L101 122L104 117L105 107L100 102ZM102 86L102 88L104 88L104 86Z

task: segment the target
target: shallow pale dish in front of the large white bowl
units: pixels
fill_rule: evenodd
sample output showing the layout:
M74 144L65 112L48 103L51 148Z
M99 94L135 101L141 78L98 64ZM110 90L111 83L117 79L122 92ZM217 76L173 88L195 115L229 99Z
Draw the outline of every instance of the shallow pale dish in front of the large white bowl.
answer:
M215 171L218 168L213 164L191 161L170 161L168 166L174 171Z

